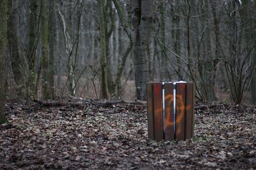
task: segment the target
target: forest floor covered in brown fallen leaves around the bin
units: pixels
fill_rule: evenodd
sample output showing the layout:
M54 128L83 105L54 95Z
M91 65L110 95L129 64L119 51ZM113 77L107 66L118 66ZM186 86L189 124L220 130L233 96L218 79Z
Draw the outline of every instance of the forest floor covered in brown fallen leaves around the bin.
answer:
M192 140L156 142L145 104L80 102L7 103L0 169L256 169L255 106L196 103Z

